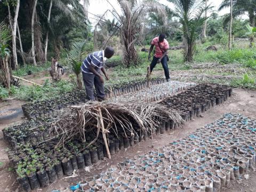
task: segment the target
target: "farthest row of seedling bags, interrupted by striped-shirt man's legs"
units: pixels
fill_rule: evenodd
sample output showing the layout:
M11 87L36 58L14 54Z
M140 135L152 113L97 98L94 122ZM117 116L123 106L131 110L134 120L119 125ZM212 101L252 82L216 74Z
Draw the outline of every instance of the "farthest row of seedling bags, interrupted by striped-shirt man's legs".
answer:
M163 78L153 78L149 81L150 85L166 82ZM111 88L110 88L111 87ZM113 98L124 93L139 91L147 87L147 81L134 80L129 83L106 86L106 98ZM51 117L61 113L61 110L68 105L86 102L85 90L73 90L52 100L43 100L27 103L22 106L26 117L37 119L39 117Z

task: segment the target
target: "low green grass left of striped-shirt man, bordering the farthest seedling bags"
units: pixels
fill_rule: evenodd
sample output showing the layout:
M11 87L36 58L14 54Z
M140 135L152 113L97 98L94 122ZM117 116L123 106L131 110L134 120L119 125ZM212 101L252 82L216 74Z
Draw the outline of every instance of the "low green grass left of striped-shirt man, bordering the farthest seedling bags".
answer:
M45 100L55 98L61 94L73 90L74 85L69 81L61 80L57 83L49 83L47 79L43 85L40 86L20 86L14 93L14 97L21 100Z

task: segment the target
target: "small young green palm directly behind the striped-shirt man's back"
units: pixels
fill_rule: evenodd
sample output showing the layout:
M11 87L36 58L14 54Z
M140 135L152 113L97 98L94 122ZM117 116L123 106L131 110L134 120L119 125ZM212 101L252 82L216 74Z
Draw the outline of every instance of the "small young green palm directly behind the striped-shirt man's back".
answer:
M76 76L76 87L79 90L83 89L81 66L86 57L86 41L78 41L73 44L68 54L68 60L71 68Z

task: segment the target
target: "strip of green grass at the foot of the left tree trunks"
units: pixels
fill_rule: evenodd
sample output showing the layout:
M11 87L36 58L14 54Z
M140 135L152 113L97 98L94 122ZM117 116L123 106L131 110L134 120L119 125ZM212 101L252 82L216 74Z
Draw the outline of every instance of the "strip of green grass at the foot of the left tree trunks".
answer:
M26 75L28 75L29 71L32 74L34 74L34 73L38 73L40 71L44 71L45 69L47 69L49 67L51 67L50 61L47 61L43 65L38 65L38 66L26 65L26 66L22 66L22 67L18 68L17 70L14 70L13 75L18 76L18 77L26 76Z

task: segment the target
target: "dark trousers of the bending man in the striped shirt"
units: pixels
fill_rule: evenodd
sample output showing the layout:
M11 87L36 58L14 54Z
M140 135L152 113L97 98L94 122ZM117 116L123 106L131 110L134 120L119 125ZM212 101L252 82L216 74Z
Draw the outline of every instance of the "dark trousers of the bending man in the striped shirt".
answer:
M100 78L94 74L82 73L83 74L83 82L85 86L85 91L87 94L87 99L94 101L93 95L93 85L95 86L95 90L97 92L98 98L103 100L105 98L104 93L104 85L101 83Z

